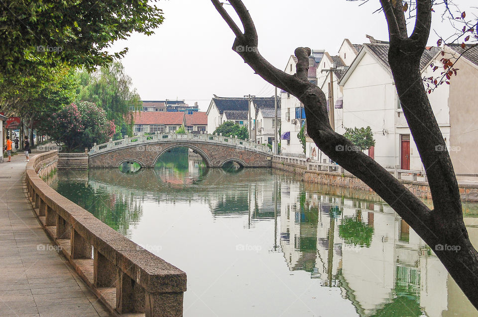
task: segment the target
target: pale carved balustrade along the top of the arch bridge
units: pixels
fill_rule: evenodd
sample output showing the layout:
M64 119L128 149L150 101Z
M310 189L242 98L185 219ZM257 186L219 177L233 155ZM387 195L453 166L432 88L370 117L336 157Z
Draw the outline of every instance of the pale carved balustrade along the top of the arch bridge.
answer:
M235 147L253 150L262 153L272 153L269 147L261 144L257 144L252 141L240 140L237 137L233 136L222 136L214 134L192 134L192 133L154 133L154 134L143 134L134 137L125 136L122 140L113 141L110 139L110 142L93 146L93 148L88 153L89 155L96 155L104 152L109 152L113 149L126 148L134 146L135 144L148 144L148 143L157 143L157 142L171 142L177 140L184 141L196 141L196 142L207 142L215 143L222 145L232 145Z

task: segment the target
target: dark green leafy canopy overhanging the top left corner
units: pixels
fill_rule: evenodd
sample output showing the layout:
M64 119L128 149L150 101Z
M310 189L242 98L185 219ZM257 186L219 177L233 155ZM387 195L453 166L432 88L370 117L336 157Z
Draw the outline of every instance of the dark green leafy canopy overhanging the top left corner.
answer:
M133 31L146 35L162 21L148 0L8 0L0 2L0 76L22 74L34 64L68 62L93 69L127 52L109 53Z

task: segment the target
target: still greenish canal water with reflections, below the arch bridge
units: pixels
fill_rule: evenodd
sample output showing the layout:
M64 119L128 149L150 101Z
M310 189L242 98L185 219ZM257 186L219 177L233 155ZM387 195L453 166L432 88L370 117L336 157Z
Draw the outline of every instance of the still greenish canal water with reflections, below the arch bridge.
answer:
M187 150L137 167L60 171L51 186L184 270L186 317L478 316L376 196L271 169L208 169ZM464 209L478 242L478 208Z

